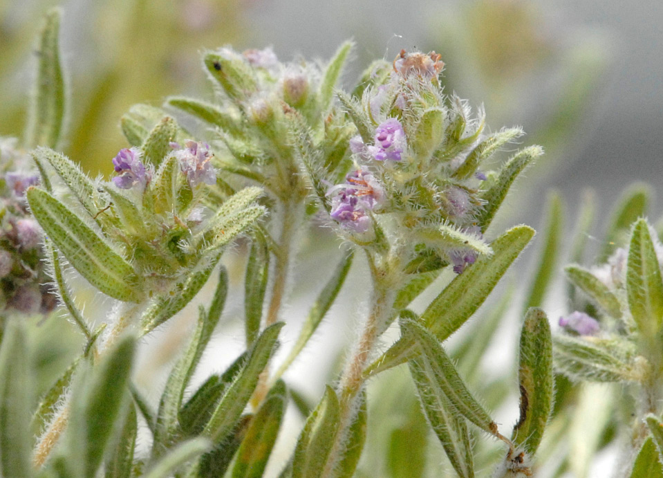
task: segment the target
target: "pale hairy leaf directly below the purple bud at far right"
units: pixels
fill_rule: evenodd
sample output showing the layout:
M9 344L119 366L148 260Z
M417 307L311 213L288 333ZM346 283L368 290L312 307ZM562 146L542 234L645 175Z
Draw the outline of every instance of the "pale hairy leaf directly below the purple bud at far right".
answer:
M619 342L592 343L557 335L553 339L555 370L572 380L624 382L642 380L633 353Z

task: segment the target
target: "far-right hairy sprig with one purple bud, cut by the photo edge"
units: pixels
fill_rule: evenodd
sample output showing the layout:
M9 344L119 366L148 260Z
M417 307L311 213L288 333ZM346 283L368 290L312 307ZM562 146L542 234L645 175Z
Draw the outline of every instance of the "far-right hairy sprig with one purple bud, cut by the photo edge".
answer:
M599 264L571 264L566 276L581 294L576 311L559 320L556 369L576 381L612 382L633 400L615 397L634 416L620 466L628 475L660 476L660 394L663 389L663 246L643 219L648 191L635 187L619 203ZM639 218L639 219L637 219ZM657 418L659 417L659 418ZM631 465L629 463L632 463ZM632 470L631 470L632 468Z

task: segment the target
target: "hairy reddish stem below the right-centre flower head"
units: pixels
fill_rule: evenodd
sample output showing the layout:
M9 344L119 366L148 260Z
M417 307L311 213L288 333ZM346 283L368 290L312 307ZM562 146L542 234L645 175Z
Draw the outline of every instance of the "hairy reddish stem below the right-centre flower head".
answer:
M371 259L369 258L369 262ZM357 414L357 399L364 386L363 372L371 358L371 352L375 347L375 341L380 335L381 324L387 320L393 312L393 301L395 300L395 288L387 285L384 281L385 274L377 270L371 262L371 275L373 277L373 294L371 297L371 311L368 313L364 331L362 332L355 353L346 363L346 367L339 382L339 405L341 413L339 428L335 436L327 463L322 477L334 476L334 470L341 461L345 452L346 437Z

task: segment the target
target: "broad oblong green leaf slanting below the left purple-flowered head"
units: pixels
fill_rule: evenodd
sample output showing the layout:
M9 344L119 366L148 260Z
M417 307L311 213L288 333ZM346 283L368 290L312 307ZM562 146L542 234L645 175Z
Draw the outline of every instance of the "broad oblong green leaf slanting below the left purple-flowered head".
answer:
M30 187L26 196L39 225L88 282L115 299L142 300L133 267L102 237L48 192Z

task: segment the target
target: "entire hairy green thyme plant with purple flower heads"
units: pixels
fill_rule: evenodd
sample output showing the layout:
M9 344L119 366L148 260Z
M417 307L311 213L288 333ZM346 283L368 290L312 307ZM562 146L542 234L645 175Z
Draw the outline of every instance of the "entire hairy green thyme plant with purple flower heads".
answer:
M528 226L502 232L489 226L516 178L543 150L516 149L519 127L489 132L482 108L473 113L467 101L445 91L440 55L403 50L393 62L374 62L344 89L339 80L350 42L328 62L280 62L270 48L205 51L213 97L173 96L163 108L132 107L120 121L127 147L112 159L113 176L104 181L57 152L67 99L58 25L54 10L39 37L24 145L32 163L17 140L3 140L0 148L4 476L260 477L266 470L293 478L364 476L359 463L375 420L368 412L371 381L406 364L420 404L415 411L425 416L422 433L434 434L447 456L449 467L436 476L446 470L474 477L479 468L494 477L532 476L546 426L559 417L553 363L575 380L633 383L639 399L624 463L630 470L628 460L637 455L635 470L663 472L657 353L663 246L644 219L632 228L628 252L606 251L607 266L566 269L595 308L562 318L572 335L553 339L540 308L559 239L553 201L520 332L512 387L520 396L519 419L512 429L496 423L465 381L476 375L505 307L460 347L465 355L449 355L447 339L534 236ZM512 154L504 157L507 148ZM617 224L624 229L629 219L622 214ZM290 320L282 309L297 279L292 262L299 239L306 228L321 226L343 243L338 264L297 340L281 344L287 353L274 362L279 332ZM223 322L229 279L219 261L240 237L250 241L245 351L225 371L196 383L194 372ZM362 278L367 315L341 373L306 410L283 374L335 303L353 258L368 265ZM133 383L136 349L189 303L200 302L196 297L212 276L214 293L199 304L196 326L152 403ZM112 304L103 317L80 309L71 279L81 277ZM435 297L415 313L411 303L431 288ZM50 312L56 299L59 314ZM77 358L39 394L25 324L35 313L48 321L66 317L81 335ZM388 330L399 338L382 347ZM474 358L467 352L473 347ZM558 398L563 392L557 390ZM282 430L290 400L306 416L294 431L299 438L290 459L275 463L277 437L293 432ZM477 433L499 443L480 467Z

